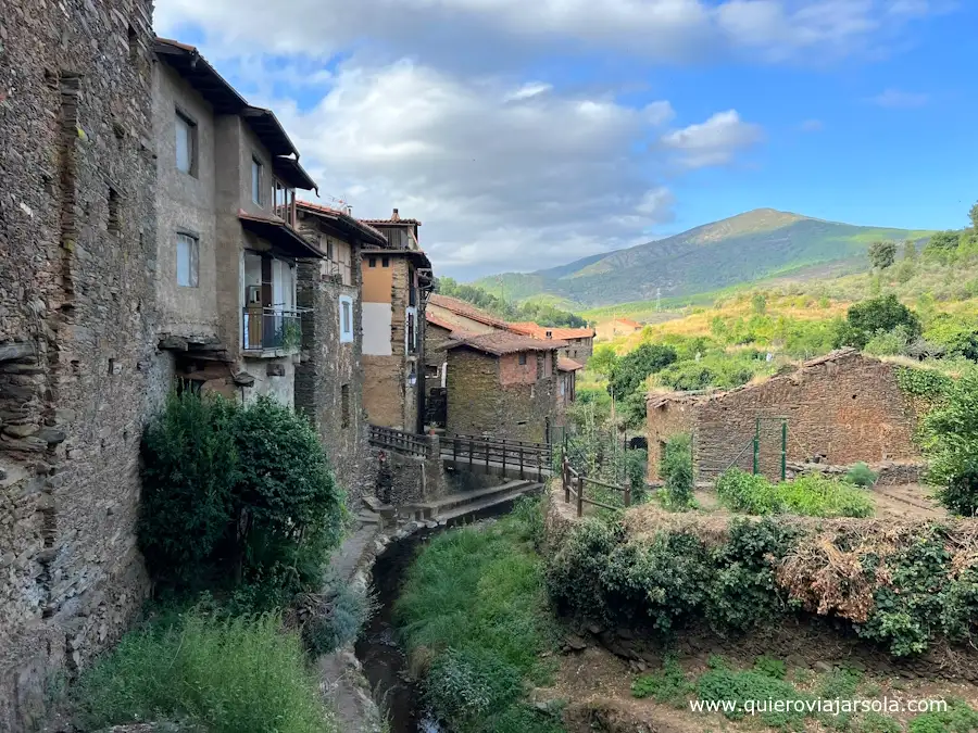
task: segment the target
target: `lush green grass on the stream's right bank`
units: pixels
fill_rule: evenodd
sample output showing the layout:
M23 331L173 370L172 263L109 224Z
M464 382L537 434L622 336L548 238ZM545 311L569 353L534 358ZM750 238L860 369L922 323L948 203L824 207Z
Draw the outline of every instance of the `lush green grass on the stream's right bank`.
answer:
M397 618L415 666L427 666L427 703L457 733L562 730L525 705L526 687L550 677L542 655L556 641L532 543L539 520L534 502L492 525L446 532L408 573Z

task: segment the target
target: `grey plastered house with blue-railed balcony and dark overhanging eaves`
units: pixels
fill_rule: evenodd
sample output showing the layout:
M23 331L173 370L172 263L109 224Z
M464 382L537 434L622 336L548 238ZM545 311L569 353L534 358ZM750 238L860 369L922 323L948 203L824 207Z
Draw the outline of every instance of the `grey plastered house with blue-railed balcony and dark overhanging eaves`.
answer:
M192 46L156 38L159 345L185 381L292 405L303 314L296 190L315 182L269 110L249 104Z

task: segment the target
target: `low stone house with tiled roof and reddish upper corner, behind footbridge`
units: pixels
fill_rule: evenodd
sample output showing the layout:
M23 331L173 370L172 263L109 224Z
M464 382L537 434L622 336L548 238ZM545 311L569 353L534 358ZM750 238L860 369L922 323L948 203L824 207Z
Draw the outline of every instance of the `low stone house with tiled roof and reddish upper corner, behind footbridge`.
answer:
M446 344L448 432L548 442L563 346L507 331L453 338Z

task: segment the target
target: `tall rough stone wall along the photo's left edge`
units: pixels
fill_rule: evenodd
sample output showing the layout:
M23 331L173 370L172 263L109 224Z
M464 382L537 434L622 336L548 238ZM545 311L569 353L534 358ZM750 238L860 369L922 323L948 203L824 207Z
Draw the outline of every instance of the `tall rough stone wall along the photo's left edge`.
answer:
M151 3L0 11L0 730L116 640L154 327Z

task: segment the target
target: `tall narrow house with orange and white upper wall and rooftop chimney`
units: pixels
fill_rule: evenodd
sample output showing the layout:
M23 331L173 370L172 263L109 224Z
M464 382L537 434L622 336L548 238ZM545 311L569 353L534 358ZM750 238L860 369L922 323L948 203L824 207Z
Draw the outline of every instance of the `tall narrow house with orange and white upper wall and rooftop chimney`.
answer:
M424 432L425 307L431 263L417 219L362 219L387 240L361 252L363 406L373 425Z

